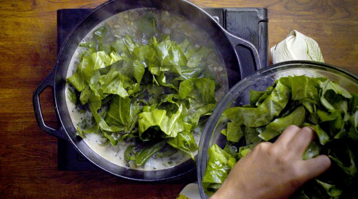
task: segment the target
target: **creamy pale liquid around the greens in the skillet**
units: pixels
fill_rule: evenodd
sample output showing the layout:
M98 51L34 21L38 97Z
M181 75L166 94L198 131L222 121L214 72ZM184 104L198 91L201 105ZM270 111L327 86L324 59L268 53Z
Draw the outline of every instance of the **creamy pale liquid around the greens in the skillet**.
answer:
M135 37L136 32L135 29L133 29L132 21L135 21L136 17L137 18L140 17L140 15L142 15L147 11L154 11L154 13L156 14L155 18L158 28L160 29L161 32L170 34L172 40L173 40L172 34L177 34L178 36L179 31L183 31L180 25L183 25L188 30L184 31L183 33L181 32L181 34L183 34L185 38L189 39L190 42L199 43L199 41L201 41L200 45L207 44L207 43L211 43L213 45L209 36L204 31L200 31L199 27L196 27L190 22L188 22L187 20L183 19L182 16L172 15L172 14L169 15L167 11L154 10L151 8L139 8L135 10L121 12L119 14L111 16L105 21L103 21L101 24L97 25L97 27L93 28L93 30L88 33L88 35L85 37L85 39L82 42L86 42L87 40L91 39L92 32L96 30L98 27L100 27L101 25L103 25L103 23L109 24L112 28L114 27L113 32L116 33L115 36L118 38L123 37L125 34L129 34L130 36ZM118 21L121 22L118 23ZM175 31L178 32L176 33ZM139 39L136 38L135 41L141 42L143 44L146 43L146 41L143 38L139 38ZM179 43L181 41L177 41L177 42ZM82 47L78 47L76 49L71 59L69 69L67 71L67 78L73 75L74 71L77 68L77 65L80 62L79 53L85 50L86 49ZM219 53L217 54L218 54L217 62L219 64L208 66L208 67L216 76L222 87L219 91L216 92L216 98L217 100L220 100L221 97L225 94L225 92L227 92L228 84L227 84L227 74L226 74L226 68L224 62L222 61L221 56L219 56ZM92 117L91 113L89 111L86 111L85 113L81 113L79 112L79 110L76 109L76 105L72 103L67 97L68 89L69 89L69 84L66 83L66 91L65 91L66 103L73 125L75 127L77 127L77 125L81 126L81 124L85 121L89 124L89 126L91 126L90 124L91 117ZM197 144L199 144L200 133L201 133L201 129L199 127L197 127L195 129L195 132L193 132ZM148 160L148 162L144 166L137 167L134 164L134 161L131 161L130 165L128 165L124 158L124 151L130 145L130 143L118 142L116 146L112 146L110 143L108 143L107 145L102 146L99 144L102 143L99 135L86 134L86 136L87 137L83 140L94 152L96 152L104 159L125 168L131 168L135 170L145 170L145 171L163 170L163 169L175 167L190 159L188 155L178 151L174 155L165 158L156 157L156 155L154 155Z

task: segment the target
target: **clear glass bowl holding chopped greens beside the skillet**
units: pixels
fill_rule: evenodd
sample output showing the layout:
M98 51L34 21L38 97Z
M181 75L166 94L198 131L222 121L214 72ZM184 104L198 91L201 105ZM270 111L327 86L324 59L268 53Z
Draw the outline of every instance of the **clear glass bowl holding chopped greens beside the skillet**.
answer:
M311 61L278 63L259 70L238 82L219 101L201 134L197 156L197 179L202 199L208 198L202 187L202 177L208 161L208 149L215 143L223 148L227 142L225 136L220 133L224 128L224 124L228 121L227 118L222 117L222 113L228 108L249 104L250 90L265 91L280 77L294 75L327 77L331 81L338 82L349 92L358 93L358 77L356 75L336 66Z

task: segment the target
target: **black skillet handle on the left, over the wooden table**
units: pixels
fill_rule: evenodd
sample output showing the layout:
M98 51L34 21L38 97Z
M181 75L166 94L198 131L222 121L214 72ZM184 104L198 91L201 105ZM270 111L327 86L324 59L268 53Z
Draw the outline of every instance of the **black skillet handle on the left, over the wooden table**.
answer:
M59 138L69 141L69 137L67 136L63 125L61 125L61 124L58 125L59 127L57 129L54 129L54 128L46 125L43 115L42 115L42 111L41 111L40 95L46 88L48 88L48 87L51 88L53 100L55 102L55 78L56 78L56 67L54 69L52 69L51 73L46 77L46 79L44 81L42 81L41 84L35 89L35 92L32 97L32 103L34 106L35 117L36 117L36 121L37 121L38 125L40 126L40 128L43 131L45 131L46 133L48 133L50 135L54 135L56 137L59 137ZM56 112L56 116L58 118L57 120L60 121L56 107L55 107L55 112Z

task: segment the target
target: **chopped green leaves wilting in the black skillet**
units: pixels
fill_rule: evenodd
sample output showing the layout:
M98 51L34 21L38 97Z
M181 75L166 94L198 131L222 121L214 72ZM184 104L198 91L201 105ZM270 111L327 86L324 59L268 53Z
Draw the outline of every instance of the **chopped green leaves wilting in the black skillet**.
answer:
M216 52L188 39L171 40L153 17L138 23L152 35L144 43L108 36L104 25L80 44L86 50L67 78L68 97L91 112L92 123L79 125L77 135L96 133L103 145L132 143L124 158L136 166L163 148L162 156L179 150L193 159L198 147L192 132L217 103L220 85L208 67Z

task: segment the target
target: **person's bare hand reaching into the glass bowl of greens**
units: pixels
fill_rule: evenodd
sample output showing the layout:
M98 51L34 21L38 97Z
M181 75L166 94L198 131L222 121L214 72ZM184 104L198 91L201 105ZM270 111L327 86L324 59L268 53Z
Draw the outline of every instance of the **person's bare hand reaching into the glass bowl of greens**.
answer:
M236 163L211 199L287 199L331 166L326 155L302 160L315 137L310 127L287 127L274 143L262 142Z

